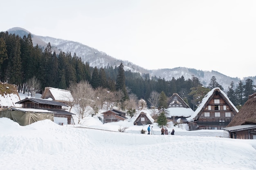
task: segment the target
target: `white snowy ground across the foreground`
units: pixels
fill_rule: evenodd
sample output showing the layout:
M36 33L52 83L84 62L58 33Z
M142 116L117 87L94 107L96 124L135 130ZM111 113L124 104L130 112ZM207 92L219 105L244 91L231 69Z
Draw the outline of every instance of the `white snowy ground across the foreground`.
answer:
M126 132L117 132L120 127ZM20 126L0 118L0 170L256 170L256 140L184 126L160 135L156 124L146 135L142 128L147 125L102 124L97 117L74 126L49 120Z

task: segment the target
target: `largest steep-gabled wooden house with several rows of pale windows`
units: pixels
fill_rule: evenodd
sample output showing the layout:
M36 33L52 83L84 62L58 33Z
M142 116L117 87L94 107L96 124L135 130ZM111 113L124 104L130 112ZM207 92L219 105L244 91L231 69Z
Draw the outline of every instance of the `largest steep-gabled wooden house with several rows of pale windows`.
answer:
M238 113L236 106L220 88L213 88L187 118L190 130L223 129Z

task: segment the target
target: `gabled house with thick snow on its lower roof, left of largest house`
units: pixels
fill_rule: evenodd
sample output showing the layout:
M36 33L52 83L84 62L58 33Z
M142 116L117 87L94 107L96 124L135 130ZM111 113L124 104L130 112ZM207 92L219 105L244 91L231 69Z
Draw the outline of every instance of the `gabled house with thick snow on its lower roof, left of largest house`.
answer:
M186 118L193 115L194 111L189 107L186 102L178 95L173 93L171 98L168 100L168 108L166 117L168 120L173 122L180 118L181 123L187 123Z

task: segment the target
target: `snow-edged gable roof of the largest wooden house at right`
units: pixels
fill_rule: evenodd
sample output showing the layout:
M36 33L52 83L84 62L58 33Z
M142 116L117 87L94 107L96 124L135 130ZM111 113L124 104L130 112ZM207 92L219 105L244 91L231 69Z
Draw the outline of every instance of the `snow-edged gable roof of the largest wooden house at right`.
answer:
M213 93L218 90L223 97L225 97L225 99L227 99L227 101L229 102L229 104L236 110L236 112L238 112L238 109L236 108L236 106L234 106L234 104L229 100L229 98L227 97L227 95L220 90L219 87L213 88L211 91L209 91L207 93L207 95L204 96L204 98L202 99L201 104L198 106L198 108L195 110L195 112L193 113L193 115L191 115L191 117L186 118L187 121L193 121L195 119L195 117L198 115L198 113L200 113L200 111L202 110L202 108L204 107L204 105L206 104L206 102L208 101L208 99L213 95Z

